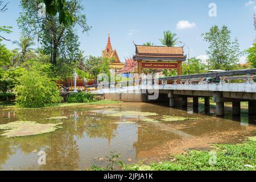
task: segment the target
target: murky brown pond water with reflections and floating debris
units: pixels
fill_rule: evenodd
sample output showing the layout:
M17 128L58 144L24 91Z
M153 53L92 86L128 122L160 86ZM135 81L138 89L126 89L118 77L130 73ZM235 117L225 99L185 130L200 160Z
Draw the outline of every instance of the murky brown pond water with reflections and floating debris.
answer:
M182 117L184 121L164 121L164 117ZM0 109L0 125L15 121L63 124L46 134L0 136L1 170L84 170L92 164L105 167L105 156L111 151L121 154L126 163L160 160L192 148L209 148L212 143L242 142L255 135L256 129L255 118L248 118L246 111L239 118L231 114L217 118L214 108L204 110L200 106L197 114L192 107L181 110L142 103ZM0 135L5 132L0 130ZM45 165L38 164L39 151L46 152Z

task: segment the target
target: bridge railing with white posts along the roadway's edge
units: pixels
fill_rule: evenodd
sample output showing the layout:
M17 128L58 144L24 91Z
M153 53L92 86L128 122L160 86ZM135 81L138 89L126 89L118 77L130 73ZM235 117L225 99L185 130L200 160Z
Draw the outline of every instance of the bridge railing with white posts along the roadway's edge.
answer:
M200 73L194 75L182 75L182 76L172 76L172 77L163 77L157 78L157 81L154 78L143 78L143 79L128 79L127 81L121 82L102 82L98 85L90 85L87 88L96 88L101 89L102 86L104 88L116 88L117 86L138 86L141 84L159 84L159 85L167 85L167 84L228 84L234 80L240 82L254 83L256 80L256 68L254 69L241 69L235 71L226 71L226 72L213 72L213 73ZM207 78L218 78L219 82L208 82ZM149 81L150 80L150 81Z

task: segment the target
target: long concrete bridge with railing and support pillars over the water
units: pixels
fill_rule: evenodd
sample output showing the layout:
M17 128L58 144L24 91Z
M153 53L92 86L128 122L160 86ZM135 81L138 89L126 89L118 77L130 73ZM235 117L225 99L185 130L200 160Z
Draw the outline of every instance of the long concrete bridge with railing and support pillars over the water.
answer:
M199 105L199 97L210 105L210 97L216 102L216 114L224 115L224 103L233 103L233 114L241 113L240 102L249 103L249 114L256 114L256 69L203 73L167 78L143 78L117 83L97 85L93 93L104 94L106 99L127 102L170 101L177 106L178 101L187 106L188 98L193 97L193 105ZM208 78L208 79L207 79ZM208 82L215 78L220 82ZM95 85L94 85L95 86Z

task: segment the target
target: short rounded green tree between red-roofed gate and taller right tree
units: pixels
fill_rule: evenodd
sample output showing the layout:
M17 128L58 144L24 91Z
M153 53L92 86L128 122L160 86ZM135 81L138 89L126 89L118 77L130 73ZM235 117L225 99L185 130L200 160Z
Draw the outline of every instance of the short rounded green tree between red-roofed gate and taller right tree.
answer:
M200 59L196 59L196 57L192 57L189 59L188 63L183 63L182 65L183 75L190 74L199 74L199 73L207 73L207 65L204 64Z

